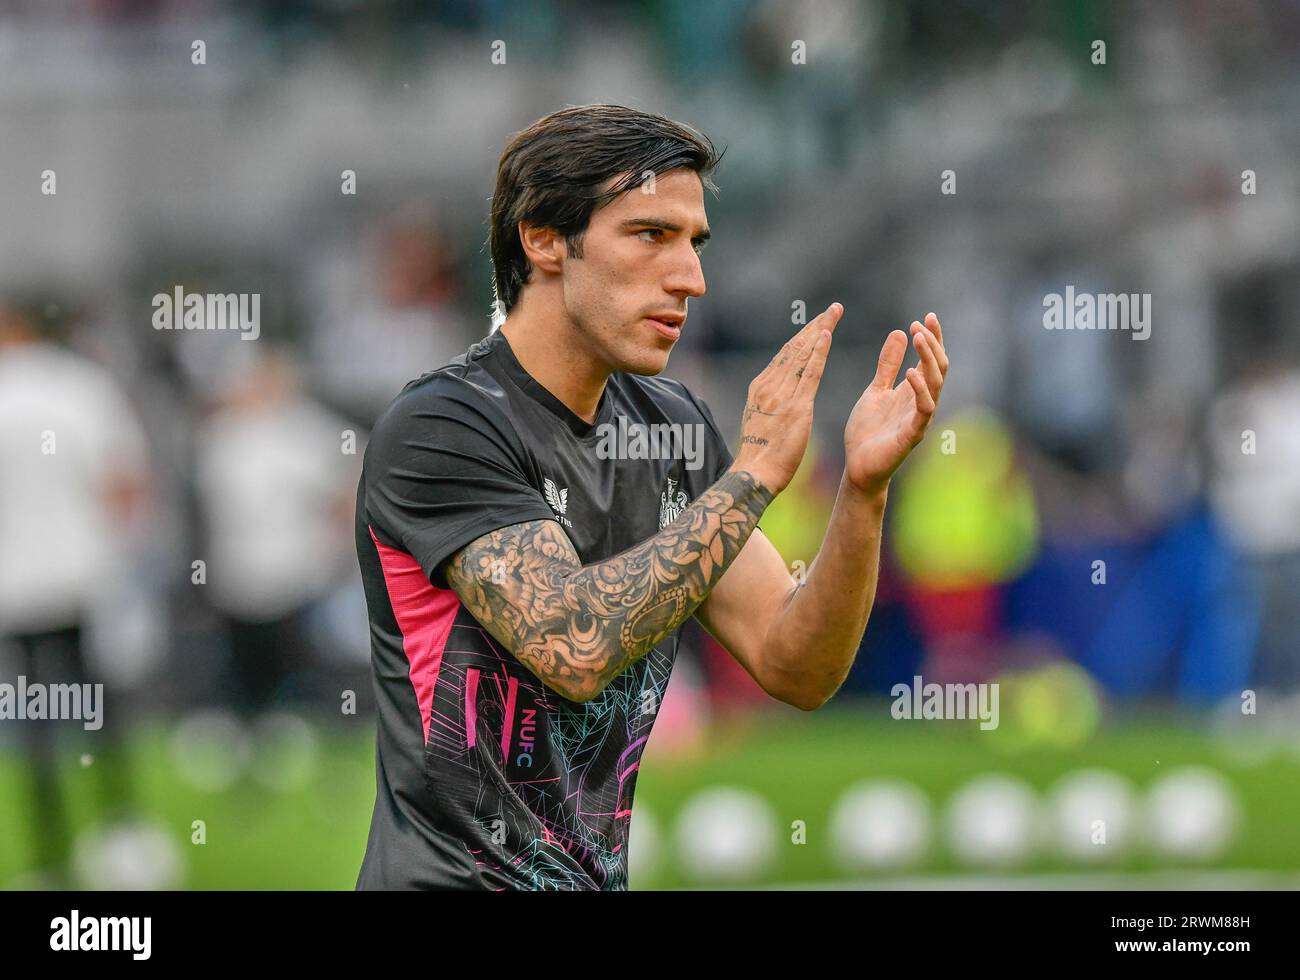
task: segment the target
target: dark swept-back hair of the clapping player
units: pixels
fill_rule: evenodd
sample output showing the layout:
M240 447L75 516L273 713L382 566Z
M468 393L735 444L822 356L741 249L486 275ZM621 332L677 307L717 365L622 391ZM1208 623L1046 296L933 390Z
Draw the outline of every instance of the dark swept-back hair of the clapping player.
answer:
M690 126L625 105L573 105L517 133L500 155L491 196L488 246L499 309L514 308L532 272L520 221L555 229L569 255L581 259L597 208L640 187L650 173L682 166L718 194L710 174L720 160L708 138ZM625 177L601 190L619 174Z

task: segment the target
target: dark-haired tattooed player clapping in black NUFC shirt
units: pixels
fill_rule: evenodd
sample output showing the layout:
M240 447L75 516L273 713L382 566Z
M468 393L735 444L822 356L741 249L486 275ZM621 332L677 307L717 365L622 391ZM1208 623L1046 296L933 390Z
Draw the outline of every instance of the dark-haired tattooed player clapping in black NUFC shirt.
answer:
M797 585L755 525L803 456L842 307L749 386L734 460L705 404L656 377L705 292L716 160L696 130L618 105L546 116L502 155L506 320L398 395L358 491L380 719L359 888L627 888L638 760L692 613L805 710L853 663L942 334L933 315L911 324L920 361L897 387L907 334L885 341ZM699 426L703 459L601 451L608 426L655 425Z

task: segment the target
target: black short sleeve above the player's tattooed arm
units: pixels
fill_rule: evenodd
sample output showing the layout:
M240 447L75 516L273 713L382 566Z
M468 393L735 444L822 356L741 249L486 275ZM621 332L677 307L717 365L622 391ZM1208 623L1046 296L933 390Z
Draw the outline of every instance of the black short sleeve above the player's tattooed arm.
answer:
M456 378L434 378L400 395L367 446L367 520L442 589L442 564L469 542L554 520L528 480L519 435L486 400Z

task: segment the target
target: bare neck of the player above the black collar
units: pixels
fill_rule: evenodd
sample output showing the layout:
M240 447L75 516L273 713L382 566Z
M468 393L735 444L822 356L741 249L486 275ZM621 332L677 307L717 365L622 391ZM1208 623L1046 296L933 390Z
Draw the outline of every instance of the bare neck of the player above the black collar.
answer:
M529 316L517 303L500 331L532 378L578 419L595 421L610 380L607 367L593 359L564 316Z

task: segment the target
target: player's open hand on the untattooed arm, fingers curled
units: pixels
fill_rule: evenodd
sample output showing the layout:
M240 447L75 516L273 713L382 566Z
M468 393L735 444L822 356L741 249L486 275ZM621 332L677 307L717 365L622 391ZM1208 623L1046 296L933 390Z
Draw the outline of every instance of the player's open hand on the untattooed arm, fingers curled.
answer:
M914 320L911 342L920 363L909 368L906 380L894 386L907 352L907 334L894 330L885 338L876 377L844 428L844 472L863 493L880 493L889 486L894 471L926 435L944 390L948 352L939 317L927 315L924 325Z

